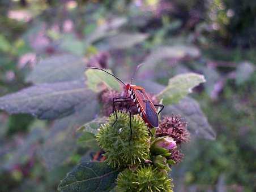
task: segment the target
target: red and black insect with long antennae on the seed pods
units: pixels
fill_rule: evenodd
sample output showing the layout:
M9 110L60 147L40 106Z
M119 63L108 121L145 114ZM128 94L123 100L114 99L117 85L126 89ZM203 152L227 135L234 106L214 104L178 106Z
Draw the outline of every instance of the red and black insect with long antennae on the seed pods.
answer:
M142 117L144 122L147 123L150 128L158 127L158 124L159 124L158 115L164 109L163 104L153 104L152 103L150 97L148 96L148 94L146 93L144 88L142 88L141 86L136 86L136 85L132 84L135 73L140 66L141 66L141 64L136 68L133 76L131 77L130 84L129 83L125 84L120 78L113 75L112 73L109 73L108 71L105 71L104 69L97 68L97 67L87 67L87 69L98 69L98 70L104 71L105 73L108 73L109 75L116 78L123 85L123 89L124 89L123 95L121 97L113 98L113 101L112 101L113 112L116 115L116 120L114 121L113 125L117 122L117 119L118 119L116 104L117 103L129 103L130 106L128 107L128 111L129 111L129 115L130 115L130 140L131 140L131 136L133 134L133 130L131 129L131 109L133 107L136 107L138 114ZM159 112L157 112L156 107L161 107ZM148 129L148 130L150 131L150 129ZM150 132L150 134L151 134L151 132Z

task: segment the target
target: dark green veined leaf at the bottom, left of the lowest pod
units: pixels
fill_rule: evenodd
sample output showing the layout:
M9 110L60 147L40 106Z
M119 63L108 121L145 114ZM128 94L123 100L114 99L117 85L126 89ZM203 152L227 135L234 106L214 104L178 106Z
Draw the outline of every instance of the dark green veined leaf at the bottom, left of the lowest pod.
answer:
M62 192L110 191L115 186L119 170L112 170L106 163L82 162L61 181Z

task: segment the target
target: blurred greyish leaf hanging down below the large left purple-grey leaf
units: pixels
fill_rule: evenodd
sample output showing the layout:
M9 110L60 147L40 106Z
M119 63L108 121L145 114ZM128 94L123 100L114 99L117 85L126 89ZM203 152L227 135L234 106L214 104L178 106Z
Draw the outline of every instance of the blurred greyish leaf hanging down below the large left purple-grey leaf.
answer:
M39 151L40 160L50 170L58 167L69 159L78 149L77 139L80 133L76 130L85 122L91 121L99 112L99 103L96 100L80 103L75 113L57 119L44 138Z

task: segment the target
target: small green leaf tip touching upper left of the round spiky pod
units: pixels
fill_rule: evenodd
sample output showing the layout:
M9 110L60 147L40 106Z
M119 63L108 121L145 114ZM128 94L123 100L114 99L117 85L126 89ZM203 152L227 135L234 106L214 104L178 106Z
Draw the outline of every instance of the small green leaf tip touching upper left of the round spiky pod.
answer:
M98 129L100 128L100 125L106 123L107 120L108 120L108 117L99 117L97 119L94 119L84 124L83 126L80 126L78 131L96 134L98 132Z

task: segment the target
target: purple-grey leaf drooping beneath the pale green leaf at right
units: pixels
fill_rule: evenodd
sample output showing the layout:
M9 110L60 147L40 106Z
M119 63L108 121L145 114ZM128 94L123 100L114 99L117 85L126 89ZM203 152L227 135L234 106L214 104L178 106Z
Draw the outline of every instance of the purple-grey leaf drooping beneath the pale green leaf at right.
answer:
M194 99L186 97L177 104L166 106L163 115L170 114L181 115L188 123L188 130L195 136L211 140L216 138L216 133Z

